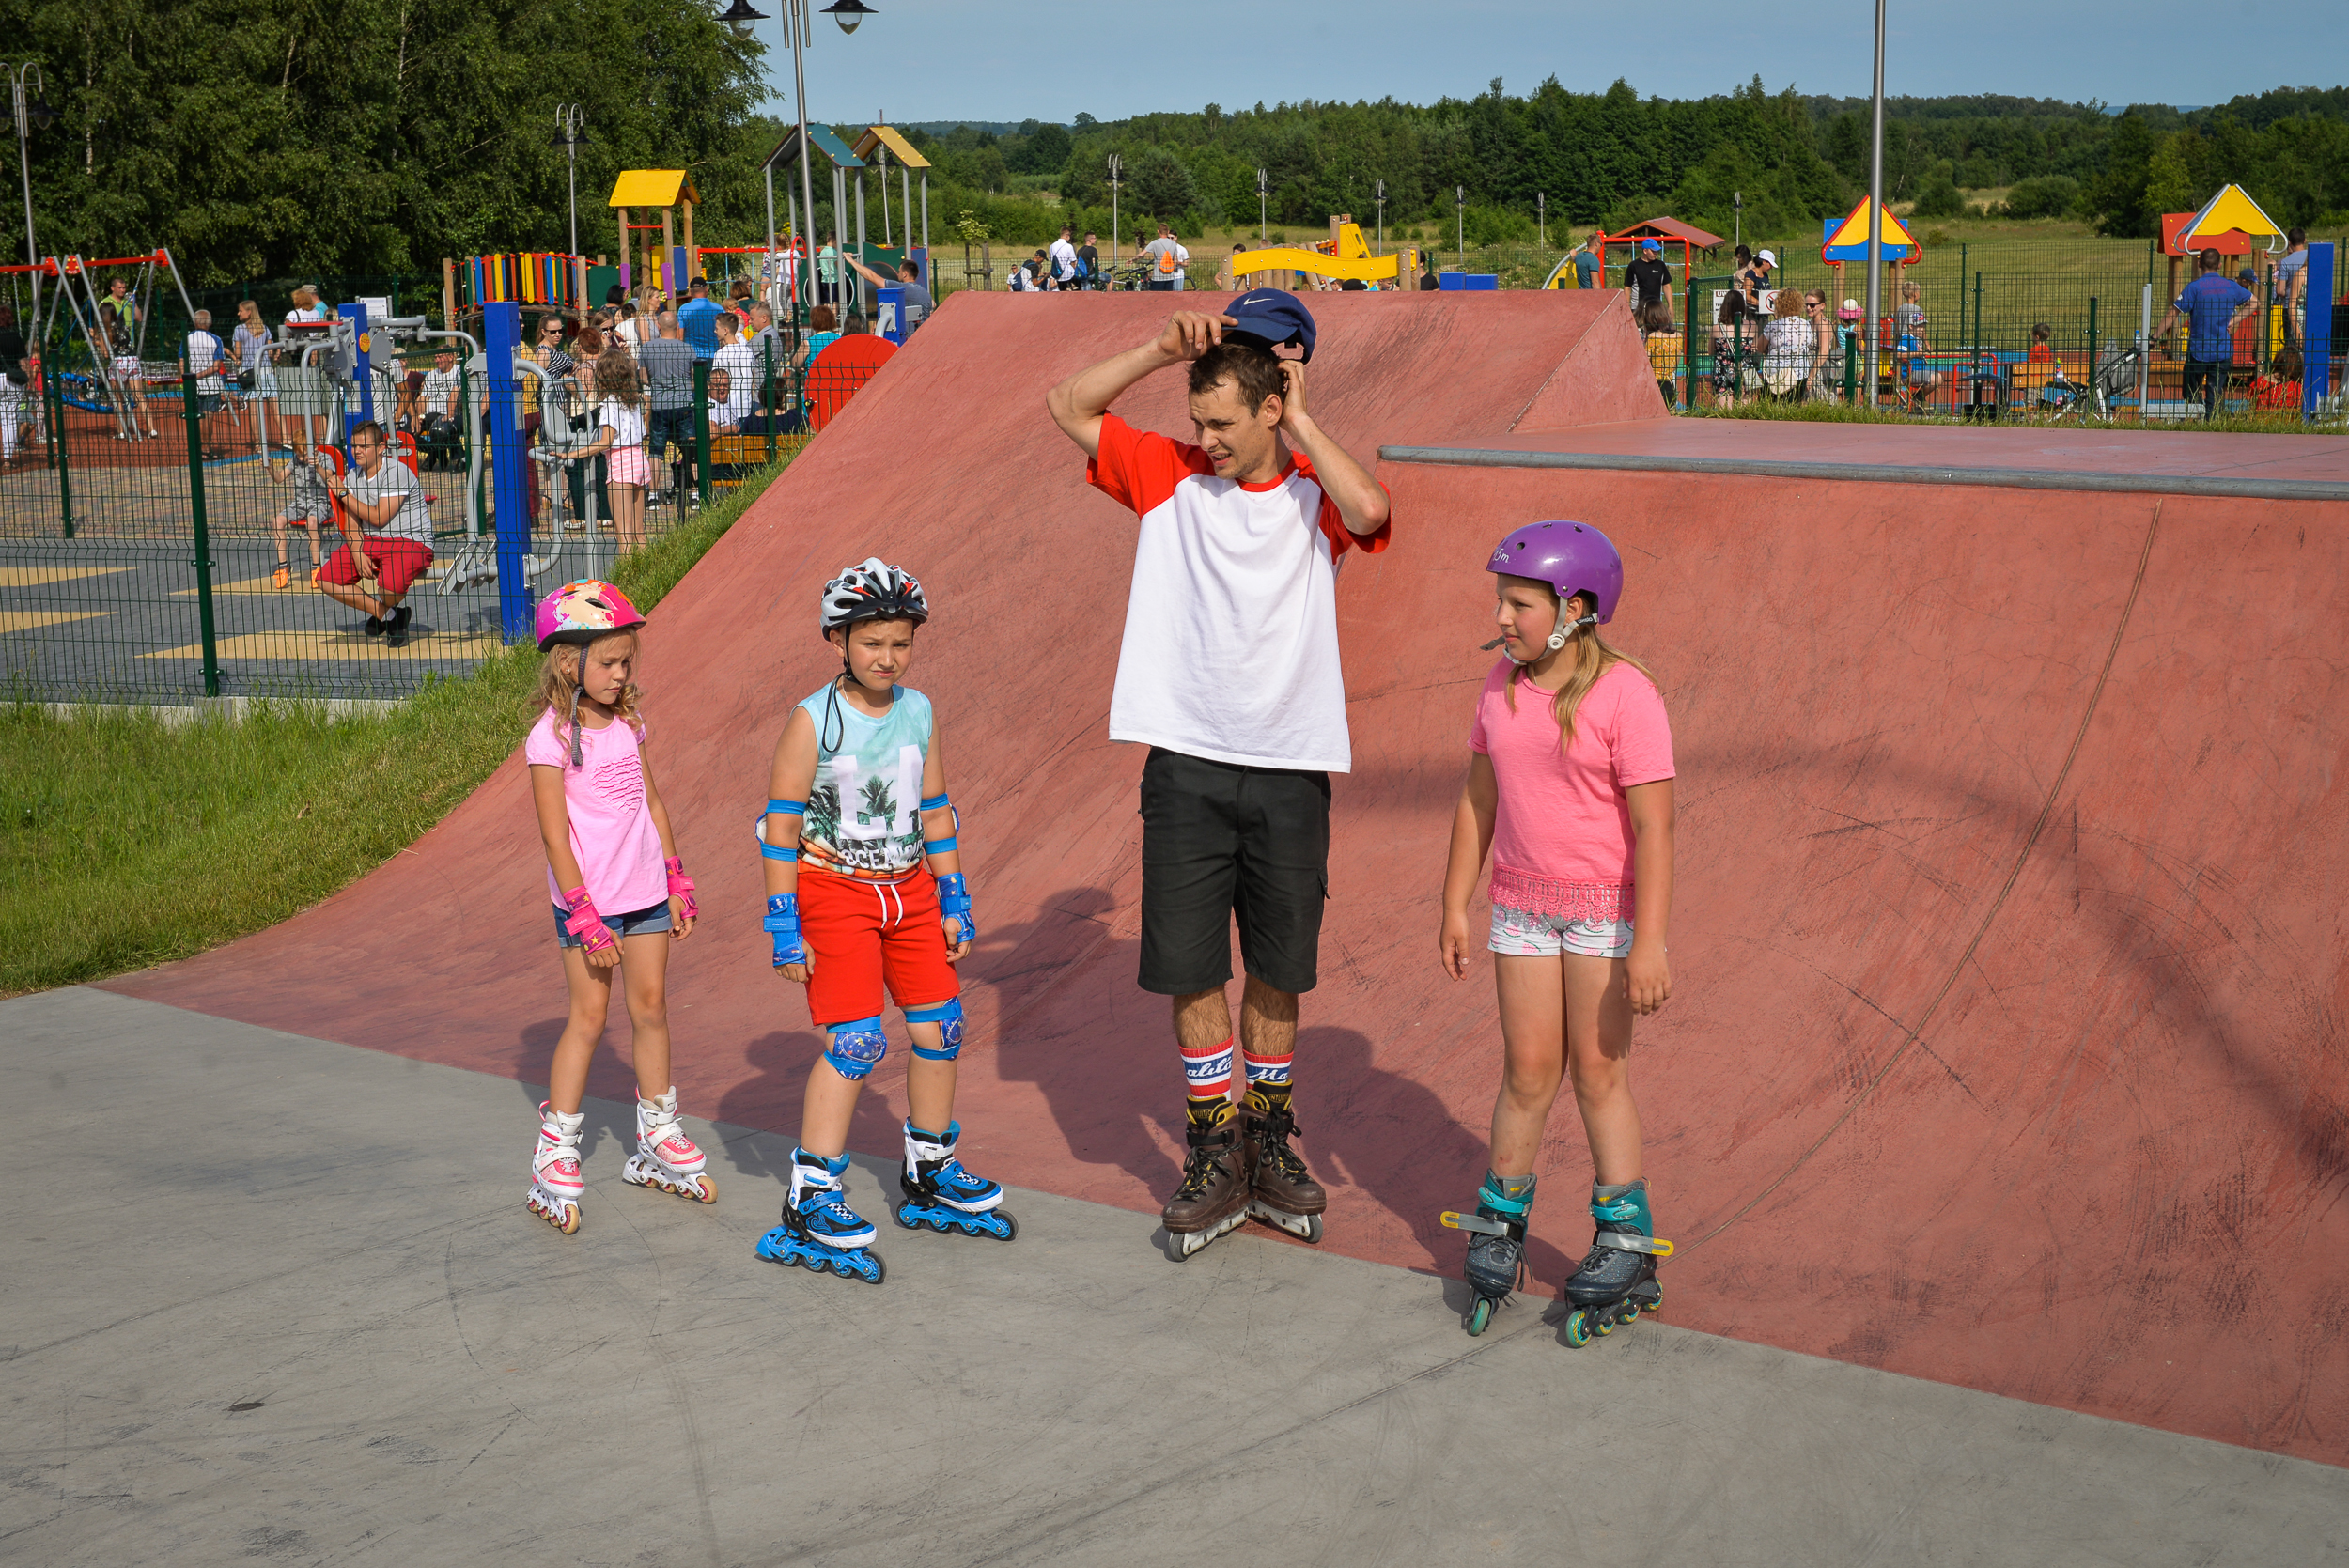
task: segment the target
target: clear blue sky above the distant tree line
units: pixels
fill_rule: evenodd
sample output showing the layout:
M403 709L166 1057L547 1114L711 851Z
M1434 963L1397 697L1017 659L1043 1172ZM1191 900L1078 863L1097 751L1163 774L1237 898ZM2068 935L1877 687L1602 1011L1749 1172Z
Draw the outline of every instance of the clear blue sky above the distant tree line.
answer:
M829 0L815 0L817 7ZM808 108L829 122L1120 120L1203 103L1283 99L1428 103L1492 77L1527 92L1546 75L1576 92L1626 77L1642 96L1729 92L1755 73L1773 92L1867 94L1875 7L1778 0L1743 7L1555 0L869 0L855 38L822 16ZM773 0L754 0L778 12ZM1886 92L2004 92L2107 103L2225 103L2239 92L2330 87L2349 70L2342 0L1976 0L1886 7ZM1630 19L1630 21L1626 21ZM1647 19L1647 21L1640 21ZM789 113L792 54L775 21L770 108Z

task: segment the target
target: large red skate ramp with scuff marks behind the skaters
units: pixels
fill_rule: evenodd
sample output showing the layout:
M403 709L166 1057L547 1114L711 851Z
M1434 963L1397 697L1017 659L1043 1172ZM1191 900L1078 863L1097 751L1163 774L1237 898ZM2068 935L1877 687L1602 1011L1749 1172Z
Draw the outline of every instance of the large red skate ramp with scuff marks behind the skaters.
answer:
M923 575L914 678L982 930L965 1155L1132 1209L1135 1246L1182 1138L1165 1002L1132 984L1142 756L1104 735L1132 523L1041 399L1165 305L949 300L660 606L646 660L709 911L672 967L677 1080L688 1110L789 1131L817 1038L763 960L749 815L785 707L829 669L815 587L867 552ZM1433 951L1492 660L1480 566L1517 521L1583 516L1630 563L1609 634L1656 667L1680 744L1677 993L1640 1028L1670 1319L2340 1462L2349 509L2196 486L2267 462L2337 484L2344 444L1776 425L1724 451L1816 462L1675 472L1703 427L1640 418L1647 366L1604 305L1315 300L1311 406L1355 453L1618 465L1381 465L1395 547L1339 582L1355 772L1299 1045L1325 1246L1459 1268L1435 1214L1482 1174L1499 1040L1489 979L1454 986ZM1120 406L1160 430L1179 408L1172 376ZM1891 472L1952 462L2163 469L2175 493ZM357 887L120 988L543 1082L564 1000L519 763ZM874 1084L855 1143L888 1150L902 1052ZM606 1061L594 1091L625 1077ZM1588 1242L1571 1106L1555 1134L1543 1293Z

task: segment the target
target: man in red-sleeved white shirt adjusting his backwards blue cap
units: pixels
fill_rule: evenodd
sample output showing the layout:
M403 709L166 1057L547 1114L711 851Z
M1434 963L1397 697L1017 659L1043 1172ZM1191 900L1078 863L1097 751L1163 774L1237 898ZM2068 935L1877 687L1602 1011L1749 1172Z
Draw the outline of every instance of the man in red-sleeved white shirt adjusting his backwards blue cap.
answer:
M1301 359L1273 354L1297 343ZM1320 1239L1327 1195L1290 1148L1297 995L1315 984L1330 885L1330 775L1353 765L1337 568L1388 542L1386 491L1306 413L1313 317L1280 289L1231 315L1177 312L1045 399L1085 479L1142 519L1109 737L1142 770L1142 988L1174 1000L1189 1160L1165 1228L1177 1258L1247 1214ZM1109 404L1189 366L1198 444ZM1231 920L1247 986L1231 1094Z

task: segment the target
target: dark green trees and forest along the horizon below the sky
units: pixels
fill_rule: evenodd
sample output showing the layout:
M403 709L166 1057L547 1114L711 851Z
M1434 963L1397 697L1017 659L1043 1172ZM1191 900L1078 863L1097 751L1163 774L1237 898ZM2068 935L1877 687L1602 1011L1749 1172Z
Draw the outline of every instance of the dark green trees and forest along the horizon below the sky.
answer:
M190 286L425 275L442 256L564 249L559 103L585 110L580 249L618 249L604 200L632 167L691 169L700 237L752 244L759 160L782 134L761 113L763 45L735 40L705 0L0 0L0 35L40 61L59 113L31 141L42 251L169 244ZM1494 80L1428 106L911 124L937 164L937 244L958 232L1043 244L1062 221L1106 235L1109 153L1125 164L1128 237L1151 218L1252 228L1259 167L1276 225L1318 230L1332 211L1372 223L1386 181L1388 230L1445 244L1454 190L1470 244L1499 244L1534 237L1536 195L1553 237L1658 211L1727 232L1734 195L1743 232L1792 237L1849 211L1867 183L1865 101L1769 92L1759 77L1710 99L1642 99L1626 82L1576 94L1553 77L1522 96ZM832 171L817 162L829 228ZM2239 181L2281 223L2323 232L2349 223L2349 89L2121 115L1893 99L1884 174L1921 216L1994 200L2006 216L2131 237ZM871 192L874 239L879 207ZM0 202L0 251L23 254L14 202Z

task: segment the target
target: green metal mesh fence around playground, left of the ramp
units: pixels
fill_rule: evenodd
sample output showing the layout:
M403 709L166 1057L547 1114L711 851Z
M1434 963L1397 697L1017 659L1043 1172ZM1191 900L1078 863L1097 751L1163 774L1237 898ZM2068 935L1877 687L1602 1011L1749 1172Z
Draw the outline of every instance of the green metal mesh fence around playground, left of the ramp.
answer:
M620 420L639 444L599 455L594 366L491 378L482 357L383 350L364 383L280 347L244 376L141 361L0 392L0 692L402 697L500 648L529 594L608 575L789 460L871 376L770 338L749 390L712 361L639 378L641 434Z

